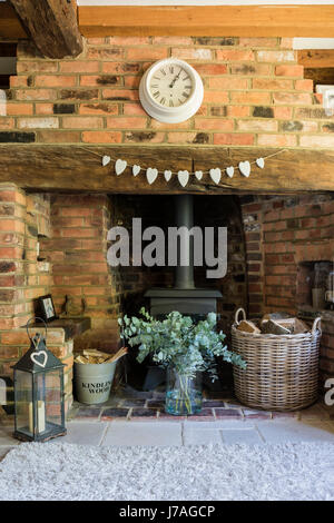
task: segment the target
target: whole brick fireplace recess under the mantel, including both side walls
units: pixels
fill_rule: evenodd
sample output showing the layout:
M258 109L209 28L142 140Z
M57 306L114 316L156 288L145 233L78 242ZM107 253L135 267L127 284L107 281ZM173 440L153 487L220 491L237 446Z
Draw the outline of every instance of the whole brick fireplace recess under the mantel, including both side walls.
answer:
M6 201L2 211L10 216L1 234L6 253L0 263L1 376L11 376L12 365L27 349L24 325L35 314L36 299L51 295L60 320L67 313L89 319L81 330L49 324L50 347L66 364L66 401L70 406L73 353L88 347L117 352L118 317L138 315L141 306L148 308L149 289L174 290L176 286L175 267L131 263L111 267L107 262L108 231L121 226L131 233L132 219L140 217L144 229L157 226L166 233L176 224L174 196L28 194L12 185L1 190ZM250 319L285 312L313 320L318 310L312 307L312 289L323 288L326 279L325 296L333 294L333 193L196 195L193 206L195 226L227 227L226 275L208 279L206 266L194 267L195 288L219 293L216 307L227 345L238 307L245 308ZM320 287L312 286L315 273ZM322 383L334 373L331 308L326 304L320 310ZM119 371L120 379L115 383L124 384L126 374L121 366ZM145 375L145 365L139 365L131 352L128 383L140 389ZM232 387L228 365L222 365L219 377L223 387Z

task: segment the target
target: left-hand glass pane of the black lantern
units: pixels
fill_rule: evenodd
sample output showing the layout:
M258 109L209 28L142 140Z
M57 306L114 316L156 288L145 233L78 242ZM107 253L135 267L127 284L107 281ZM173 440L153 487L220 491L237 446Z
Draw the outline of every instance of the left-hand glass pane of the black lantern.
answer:
M17 431L33 436L32 374L16 371Z

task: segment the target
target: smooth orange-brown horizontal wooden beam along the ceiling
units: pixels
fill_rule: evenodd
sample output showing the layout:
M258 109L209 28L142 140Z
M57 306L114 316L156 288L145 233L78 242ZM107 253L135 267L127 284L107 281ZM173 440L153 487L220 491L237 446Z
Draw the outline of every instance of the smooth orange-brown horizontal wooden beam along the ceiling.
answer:
M85 37L334 37L334 6L79 6L78 19Z

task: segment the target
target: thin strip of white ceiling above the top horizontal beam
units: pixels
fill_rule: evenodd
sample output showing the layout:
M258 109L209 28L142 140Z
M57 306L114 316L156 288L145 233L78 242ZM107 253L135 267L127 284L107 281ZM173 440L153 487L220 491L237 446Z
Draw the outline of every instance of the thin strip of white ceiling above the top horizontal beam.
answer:
M78 6L334 6L334 0L77 0Z

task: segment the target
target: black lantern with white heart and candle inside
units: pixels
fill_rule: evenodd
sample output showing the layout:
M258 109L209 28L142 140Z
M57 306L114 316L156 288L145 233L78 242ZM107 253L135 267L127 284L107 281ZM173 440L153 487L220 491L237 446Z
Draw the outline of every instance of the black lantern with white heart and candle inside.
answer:
M32 318L35 319L35 318ZM29 351L14 369L14 437L45 442L66 434L63 404L65 365L46 346L46 334L36 333ZM40 318L37 318L40 319Z

